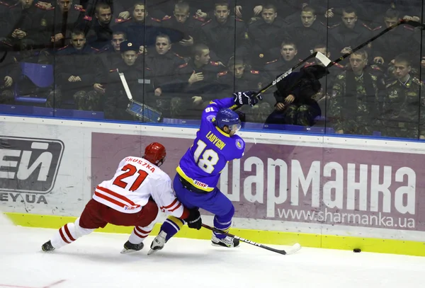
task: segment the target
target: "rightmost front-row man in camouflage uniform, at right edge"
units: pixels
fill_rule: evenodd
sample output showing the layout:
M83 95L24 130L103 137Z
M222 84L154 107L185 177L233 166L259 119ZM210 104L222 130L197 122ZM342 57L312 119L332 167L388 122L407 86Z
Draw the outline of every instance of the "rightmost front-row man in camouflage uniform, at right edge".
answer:
M412 63L407 54L395 57L394 78L386 85L382 111L384 136L425 139L425 102L420 98L424 85L411 71Z

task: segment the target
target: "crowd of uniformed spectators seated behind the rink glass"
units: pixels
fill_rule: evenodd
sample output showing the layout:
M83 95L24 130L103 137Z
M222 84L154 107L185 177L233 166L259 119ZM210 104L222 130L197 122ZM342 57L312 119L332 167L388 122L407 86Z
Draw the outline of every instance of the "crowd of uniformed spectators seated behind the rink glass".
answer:
M1 0L0 104L100 111L134 120L132 98L164 118L196 120L215 98L259 91L305 59L330 59L399 19L422 22L419 0ZM425 139L422 33L399 25L329 69L307 102L273 96L242 108L246 122L295 111L280 124L341 134ZM424 57L422 57L424 55ZM52 65L39 87L22 63ZM306 67L316 64L307 62ZM17 95L45 102L16 102ZM313 104L312 104L313 103ZM307 108L305 108L307 107ZM305 115L314 119L305 121ZM314 112L314 113L313 113Z

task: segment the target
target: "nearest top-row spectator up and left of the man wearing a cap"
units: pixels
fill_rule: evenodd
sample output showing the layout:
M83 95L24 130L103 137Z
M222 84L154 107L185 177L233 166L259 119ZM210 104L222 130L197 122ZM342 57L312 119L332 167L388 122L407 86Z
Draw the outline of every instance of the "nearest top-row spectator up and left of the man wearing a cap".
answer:
M107 45L112 39L112 23L113 15L111 6L99 2L96 4L94 17L84 16L79 21L77 28L84 31L89 45L96 49L101 49L101 47Z

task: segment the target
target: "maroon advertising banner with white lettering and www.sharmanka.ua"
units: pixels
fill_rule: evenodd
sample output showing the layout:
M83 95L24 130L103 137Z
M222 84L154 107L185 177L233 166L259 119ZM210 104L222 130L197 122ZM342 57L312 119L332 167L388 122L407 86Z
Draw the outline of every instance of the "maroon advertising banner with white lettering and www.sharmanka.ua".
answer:
M174 178L192 139L93 133L92 188L154 141L166 146L162 168ZM222 171L220 190L235 217L425 231L424 161L423 154L248 143L243 159Z

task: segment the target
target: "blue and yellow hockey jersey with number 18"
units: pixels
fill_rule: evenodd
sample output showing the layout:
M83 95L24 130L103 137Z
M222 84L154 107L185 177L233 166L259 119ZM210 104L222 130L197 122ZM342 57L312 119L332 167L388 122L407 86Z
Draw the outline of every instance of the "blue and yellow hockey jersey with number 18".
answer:
M205 108L196 139L176 169L181 178L198 190L214 190L227 162L244 156L244 140L236 134L230 137L214 123L217 112L232 105L233 98L225 98L214 100Z

